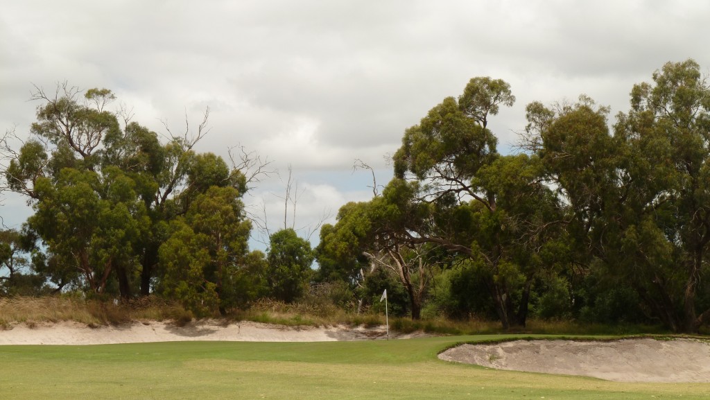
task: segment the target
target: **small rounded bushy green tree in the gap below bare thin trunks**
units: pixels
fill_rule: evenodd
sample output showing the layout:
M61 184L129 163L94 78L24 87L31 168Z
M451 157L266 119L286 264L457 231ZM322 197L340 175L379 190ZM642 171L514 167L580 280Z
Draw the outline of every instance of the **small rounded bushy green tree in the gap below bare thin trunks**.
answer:
M293 229L271 235L266 282L273 298L291 303L305 293L312 276L314 254L310 243Z

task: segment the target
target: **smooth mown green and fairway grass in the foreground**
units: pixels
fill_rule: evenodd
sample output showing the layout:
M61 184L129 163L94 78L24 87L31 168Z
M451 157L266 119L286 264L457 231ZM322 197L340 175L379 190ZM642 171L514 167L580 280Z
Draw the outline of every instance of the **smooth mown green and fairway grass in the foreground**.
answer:
M496 336L501 337L501 336ZM709 384L623 384L437 359L492 336L366 342L0 347L0 399L707 399Z

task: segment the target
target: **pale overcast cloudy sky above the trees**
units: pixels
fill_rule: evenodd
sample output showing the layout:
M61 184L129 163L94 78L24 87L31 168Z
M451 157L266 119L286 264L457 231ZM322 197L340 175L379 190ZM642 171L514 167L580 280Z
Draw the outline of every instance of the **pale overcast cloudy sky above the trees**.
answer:
M0 0L0 9L0 132L27 138L34 85L53 92L64 81L112 90L113 107L163 135L185 121L194 129L209 107L197 151L226 157L244 146L271 162L275 172L244 201L272 232L284 226L290 167L299 196L286 225L314 244L340 206L372 197L372 175L355 161L386 185L404 130L472 77L510 84L517 100L488 128L511 153L530 102L587 94L613 116L665 63L710 67L702 0ZM23 198L0 202L7 227L31 214ZM267 240L255 229L252 247Z

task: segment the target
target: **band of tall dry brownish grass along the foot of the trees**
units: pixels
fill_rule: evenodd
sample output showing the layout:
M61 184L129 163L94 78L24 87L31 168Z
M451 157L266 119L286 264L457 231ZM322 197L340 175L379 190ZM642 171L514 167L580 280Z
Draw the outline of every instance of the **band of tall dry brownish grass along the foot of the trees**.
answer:
M354 307L342 308L319 298L305 298L298 303L261 299L246 310L232 310L226 320L249 320L276 325L366 325L385 323L385 316L355 313ZM75 321L89 326L116 325L132 321L171 320L185 325L194 317L179 303L148 296L127 303L114 304L86 300L76 296L0 298L0 330L15 323L56 323ZM410 320L390 318L390 327L401 333L417 330L437 335L481 335L493 333L568 334L568 335L633 335L667 333L659 326L580 324L566 320L528 320L525 328L504 331L501 323L486 320L448 320L430 318Z

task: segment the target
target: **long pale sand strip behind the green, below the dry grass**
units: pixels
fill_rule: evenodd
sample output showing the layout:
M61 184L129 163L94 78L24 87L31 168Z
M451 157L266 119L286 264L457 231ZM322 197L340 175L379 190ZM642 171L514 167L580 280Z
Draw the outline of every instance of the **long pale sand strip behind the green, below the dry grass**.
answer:
M422 336L398 335L391 339ZM0 345L102 345L110 343L175 342L185 340L227 340L243 342L324 342L332 340L376 340L386 338L386 327L328 328L284 327L240 322L225 325L219 321L193 322L178 328L165 322L131 323L89 328L73 322L19 324L0 330Z

